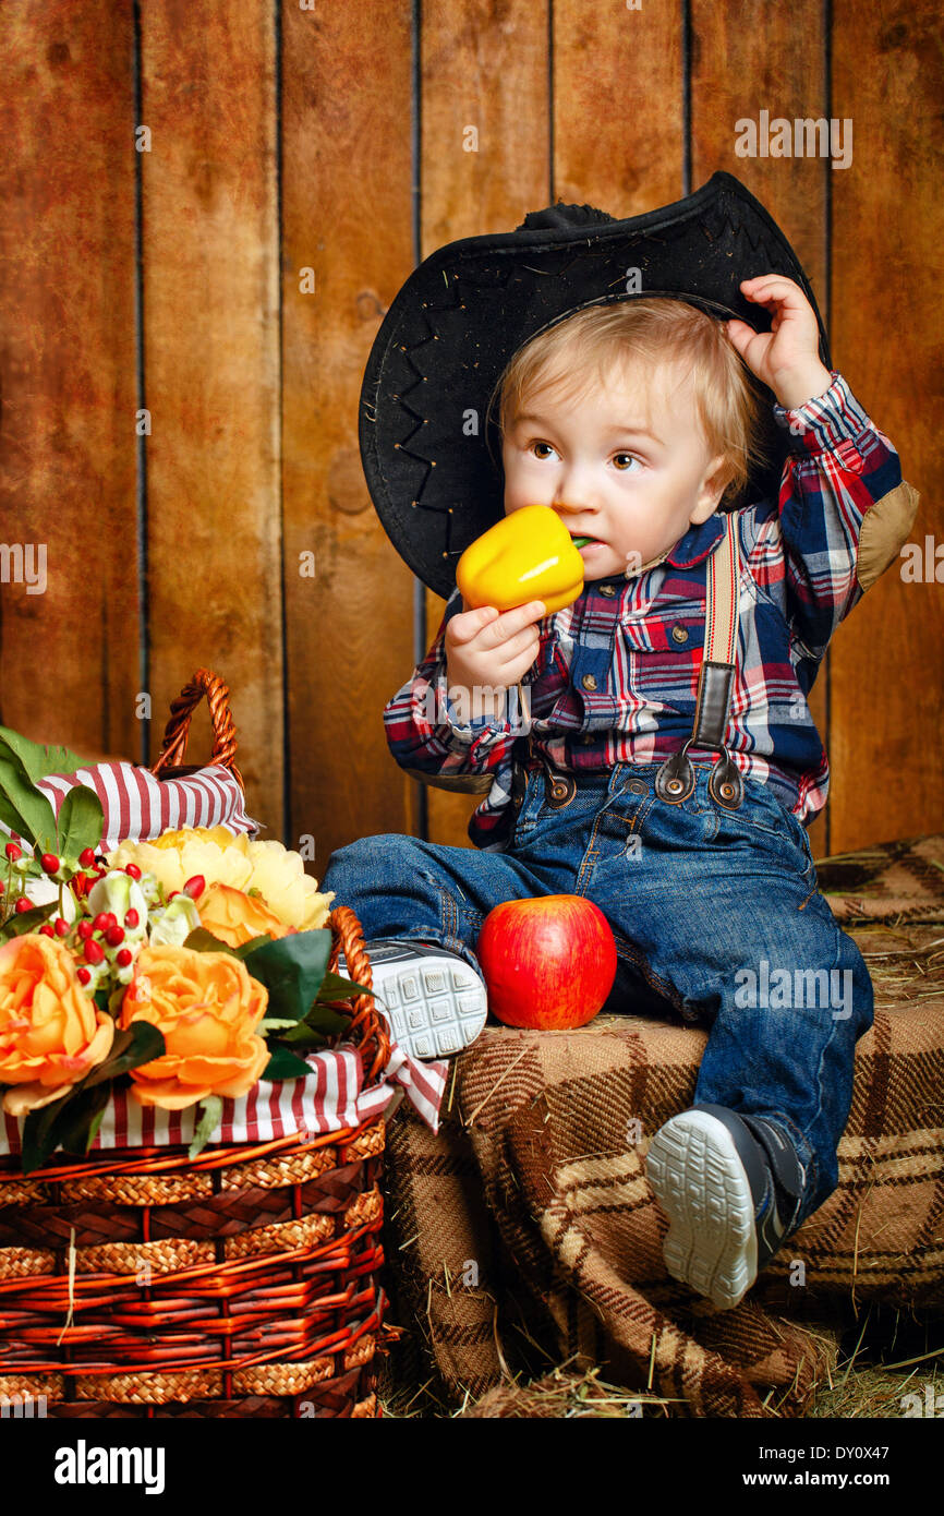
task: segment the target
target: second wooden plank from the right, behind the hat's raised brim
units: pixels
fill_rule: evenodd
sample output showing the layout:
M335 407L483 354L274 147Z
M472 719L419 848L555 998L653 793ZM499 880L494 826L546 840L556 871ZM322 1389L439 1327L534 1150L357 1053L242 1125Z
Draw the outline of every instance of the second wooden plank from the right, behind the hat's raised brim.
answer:
M826 42L818 0L771 6L767 0L717 6L694 0L691 11L691 186L717 168L735 174L767 206L794 247L826 309L826 179L820 159L738 158L739 120L817 117L826 112ZM835 176L833 176L835 177ZM758 268L758 273L765 270ZM829 655L827 655L829 658ZM820 669L809 708L829 750L827 664ZM833 781L835 782L835 781ZM829 852L829 802L809 828L817 857Z

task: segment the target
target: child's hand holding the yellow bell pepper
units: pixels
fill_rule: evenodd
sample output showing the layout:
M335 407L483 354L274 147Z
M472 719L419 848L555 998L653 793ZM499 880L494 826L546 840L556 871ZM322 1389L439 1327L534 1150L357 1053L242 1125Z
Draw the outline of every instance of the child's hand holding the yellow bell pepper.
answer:
M465 603L465 602L462 602ZM529 600L514 611L480 605L453 615L445 626L445 672L449 696L471 696L471 713L492 714L492 691L506 690L527 673L541 646L536 623L545 614L542 600ZM458 702L462 705L462 699Z

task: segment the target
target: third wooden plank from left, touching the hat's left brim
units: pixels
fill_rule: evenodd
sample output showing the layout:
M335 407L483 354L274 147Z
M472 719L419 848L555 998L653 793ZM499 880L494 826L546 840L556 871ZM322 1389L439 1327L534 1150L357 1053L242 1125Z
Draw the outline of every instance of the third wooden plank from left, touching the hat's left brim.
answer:
M335 847L415 829L382 720L414 667L412 573L358 450L367 356L414 264L411 5L285 6L282 24L289 832L314 838L321 878Z

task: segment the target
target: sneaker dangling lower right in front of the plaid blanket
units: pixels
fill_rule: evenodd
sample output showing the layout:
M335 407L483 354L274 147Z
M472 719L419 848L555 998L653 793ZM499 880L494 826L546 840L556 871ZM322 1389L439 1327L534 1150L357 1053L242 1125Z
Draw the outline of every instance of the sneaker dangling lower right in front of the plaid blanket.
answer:
M764 1116L695 1105L652 1140L645 1173L668 1216L668 1272L727 1310L796 1228L806 1170Z

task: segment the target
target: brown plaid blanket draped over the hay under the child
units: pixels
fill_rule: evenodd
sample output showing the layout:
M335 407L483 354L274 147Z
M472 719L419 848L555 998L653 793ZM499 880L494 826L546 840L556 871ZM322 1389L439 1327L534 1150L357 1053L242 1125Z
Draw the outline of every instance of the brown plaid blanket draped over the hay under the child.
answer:
M388 1131L400 1372L474 1401L509 1367L599 1363L670 1413L800 1416L833 1352L805 1316L838 1296L944 1299L944 835L823 860L818 882L867 958L876 1019L839 1186L741 1305L667 1275L644 1170L649 1137L691 1104L706 1032L488 1026L455 1060L439 1135L406 1108Z

